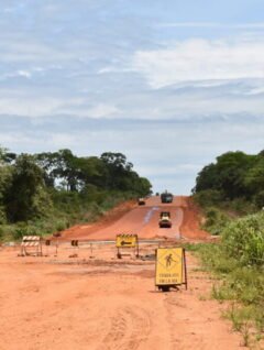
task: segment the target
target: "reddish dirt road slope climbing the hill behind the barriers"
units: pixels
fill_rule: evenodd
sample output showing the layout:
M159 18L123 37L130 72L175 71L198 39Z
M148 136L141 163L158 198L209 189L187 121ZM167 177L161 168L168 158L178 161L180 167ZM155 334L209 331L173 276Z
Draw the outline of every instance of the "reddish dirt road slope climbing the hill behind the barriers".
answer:
M75 226L62 232L62 239L108 239L118 233L138 233L140 239L184 238L205 240L210 236L199 229L198 209L187 196L175 196L172 204L162 204L160 196L147 198L144 206L133 201L120 205L99 222ZM172 229L160 229L161 211L170 211Z

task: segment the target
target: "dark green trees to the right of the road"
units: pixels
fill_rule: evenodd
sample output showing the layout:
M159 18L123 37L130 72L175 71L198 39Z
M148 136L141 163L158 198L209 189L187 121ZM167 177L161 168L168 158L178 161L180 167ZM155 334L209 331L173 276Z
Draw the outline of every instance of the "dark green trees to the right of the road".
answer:
M246 154L227 152L205 166L196 178L195 194L210 192L219 200L243 198L264 206L264 151Z

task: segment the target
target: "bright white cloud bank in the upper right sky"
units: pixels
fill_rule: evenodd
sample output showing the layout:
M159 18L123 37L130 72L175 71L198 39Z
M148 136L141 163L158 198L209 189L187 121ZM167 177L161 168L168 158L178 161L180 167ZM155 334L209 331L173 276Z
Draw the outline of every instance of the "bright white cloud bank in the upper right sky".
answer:
M132 70L153 89L183 81L264 78L264 41L188 40L164 50L138 51Z

